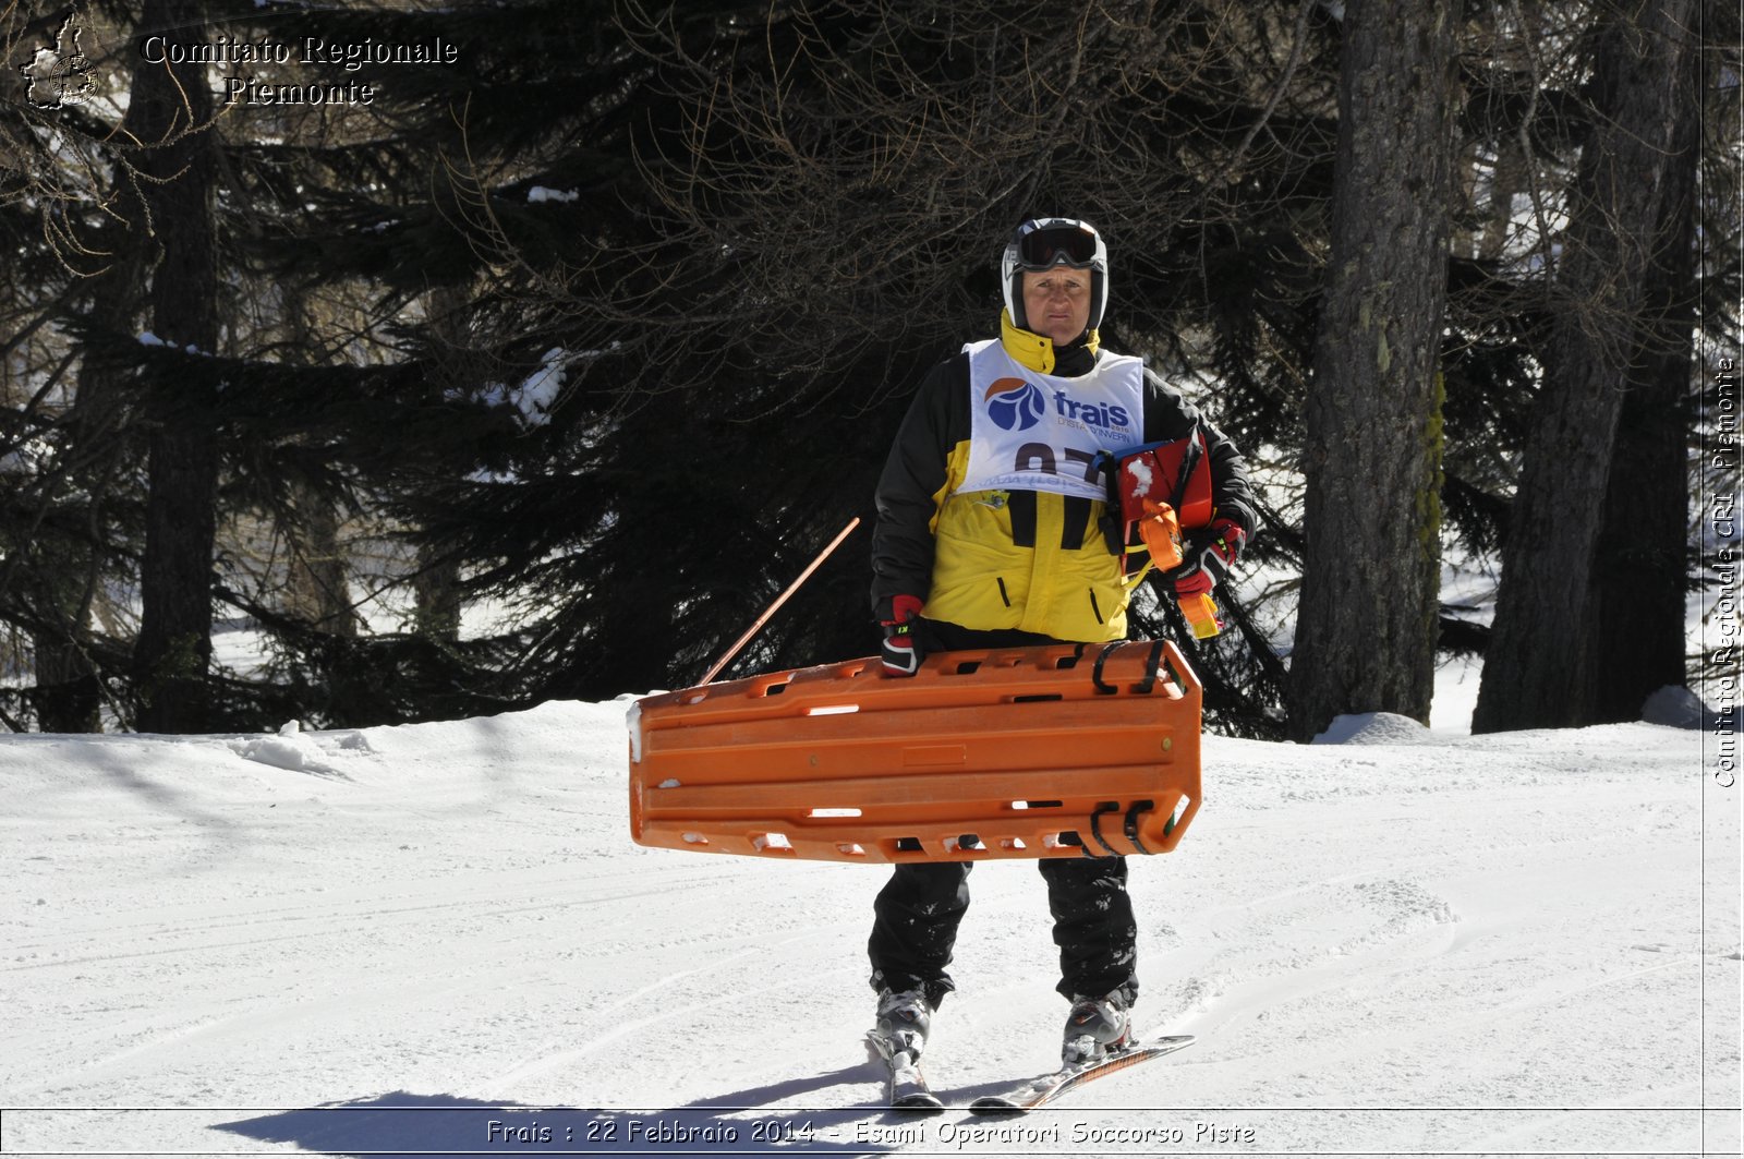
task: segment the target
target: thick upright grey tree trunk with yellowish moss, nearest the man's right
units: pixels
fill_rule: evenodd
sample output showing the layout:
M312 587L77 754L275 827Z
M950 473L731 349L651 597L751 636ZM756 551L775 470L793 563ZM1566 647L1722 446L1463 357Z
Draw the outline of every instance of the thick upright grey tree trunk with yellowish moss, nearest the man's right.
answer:
M1291 735L1428 719L1441 571L1441 326L1453 168L1446 0L1345 9L1332 258L1308 393Z

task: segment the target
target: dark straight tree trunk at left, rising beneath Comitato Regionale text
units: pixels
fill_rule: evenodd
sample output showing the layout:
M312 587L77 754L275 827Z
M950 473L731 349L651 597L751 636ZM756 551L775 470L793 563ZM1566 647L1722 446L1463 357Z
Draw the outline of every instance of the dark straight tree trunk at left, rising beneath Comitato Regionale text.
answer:
M143 31L169 44L204 45L197 0L148 0ZM176 56L176 54L171 54ZM152 328L164 342L206 354L218 346L218 276L213 229L211 93L201 65L150 65L133 84L145 145L152 264ZM131 110L129 110L131 112ZM152 387L146 414L150 494L140 567L143 731L188 733L209 724L213 539L218 503L218 438L213 384L190 374Z

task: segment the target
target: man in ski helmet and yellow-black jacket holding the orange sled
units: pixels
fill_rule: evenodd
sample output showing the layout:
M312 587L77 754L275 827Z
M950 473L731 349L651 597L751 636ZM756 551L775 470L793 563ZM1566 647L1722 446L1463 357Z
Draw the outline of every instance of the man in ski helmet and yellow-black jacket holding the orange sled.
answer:
M1109 527L1106 454L1196 440L1209 520L1179 595L1205 593L1256 525L1247 468L1142 360L1102 349L1107 248L1088 223L1036 218L1001 260L999 337L923 379L877 487L872 607L884 669L912 676L933 651L1127 637L1125 543ZM1059 991L1073 1009L1067 1065L1130 1042L1137 925L1123 857L1041 859ZM905 862L874 904L869 943L877 1026L919 1058L954 984L971 862Z

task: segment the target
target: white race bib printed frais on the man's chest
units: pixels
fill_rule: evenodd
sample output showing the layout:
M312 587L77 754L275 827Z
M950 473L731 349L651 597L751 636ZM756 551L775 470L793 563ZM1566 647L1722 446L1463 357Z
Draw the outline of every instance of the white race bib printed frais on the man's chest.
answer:
M998 339L970 356L970 459L957 490L1052 490L1107 497L1097 452L1144 442L1144 361L1102 354L1060 379L1029 370Z

